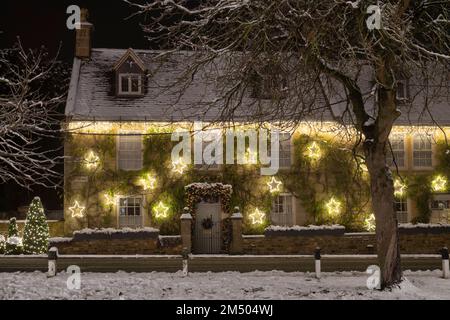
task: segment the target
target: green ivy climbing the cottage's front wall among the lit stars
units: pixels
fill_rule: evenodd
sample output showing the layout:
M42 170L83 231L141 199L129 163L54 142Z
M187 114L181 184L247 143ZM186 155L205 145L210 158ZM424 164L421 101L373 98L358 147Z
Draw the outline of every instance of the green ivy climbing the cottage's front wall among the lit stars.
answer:
M145 195L144 214L151 225L159 228L161 234L178 234L179 217L186 205L185 186L194 182L223 183L233 187L229 207L239 206L244 215L243 232L262 233L270 224L272 202L277 193L269 192L267 181L261 176L259 165L222 165L220 169L198 170L188 166L183 174L171 170L171 151L176 142L166 132L149 129L143 141L143 168L139 171L116 171L115 135L73 135L68 140L71 146L73 166L67 174L66 199L72 203L83 201L87 212L87 226L114 227L116 213L114 205L105 201L106 196ZM308 147L315 142L320 148L320 157L312 159ZM83 156L94 151L100 161L95 170L83 166ZM276 175L283 183L283 192L293 194L300 200L302 210L307 212L306 224L341 224L347 230L363 230L364 220L371 214L370 186L368 173L361 160L344 142L327 140L309 135L295 135L293 138L294 161L290 170L280 170ZM440 166L436 168L450 177L450 153L444 144L438 145ZM361 157L359 158L361 159ZM143 190L139 179L150 174L155 177L155 188ZM433 172L404 177L408 181L408 196L414 197L419 211L418 221L429 220L430 180ZM81 188L72 189L72 177L86 176L87 182ZM341 204L340 214L330 216L326 202L331 198ZM164 219L155 217L153 208L159 202L169 208ZM189 206L189 205L188 205ZM265 213L262 224L252 224L249 214L256 208Z

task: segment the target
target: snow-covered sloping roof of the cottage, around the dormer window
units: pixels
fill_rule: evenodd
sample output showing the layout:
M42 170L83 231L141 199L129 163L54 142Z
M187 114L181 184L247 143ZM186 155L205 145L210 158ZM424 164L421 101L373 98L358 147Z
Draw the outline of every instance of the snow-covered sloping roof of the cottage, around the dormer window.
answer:
M143 63L148 72L148 80L144 82L144 94L141 96L117 96L113 83L114 66L130 49L92 49L91 59L75 58L69 95L66 105L66 116L72 120L98 121L248 121L252 122L255 108L254 100L244 98L242 106L235 111L233 119L222 114L219 81L212 81L218 71L214 66L200 70L192 83L182 90L177 79L182 76L194 53L179 51L161 57L162 52L156 50L132 50L135 59ZM369 83L367 85L370 85ZM433 125L434 120L440 125L450 125L449 97L442 97L430 112L424 112L420 99L413 108L399 107L402 115L397 125ZM345 105L345 103L342 103ZM336 105L339 114L339 105ZM258 109L259 111L259 109ZM267 111L267 110L266 110ZM273 120L270 112L265 112L268 120ZM263 116L264 117L264 116ZM318 108L314 114L304 115L305 119L334 121L335 117L326 108ZM260 119L260 118L258 118ZM283 120L283 119L280 119ZM288 119L291 120L291 119Z

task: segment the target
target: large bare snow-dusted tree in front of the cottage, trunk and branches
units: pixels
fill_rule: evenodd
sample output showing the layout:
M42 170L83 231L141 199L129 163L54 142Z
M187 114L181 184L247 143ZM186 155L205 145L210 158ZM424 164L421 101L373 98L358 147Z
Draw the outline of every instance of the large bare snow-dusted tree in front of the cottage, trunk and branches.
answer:
M333 111L356 132L370 174L382 287L401 281L393 181L386 165L389 134L401 112L400 76L420 76L420 113L429 112L430 88L448 89L448 1L380 0L155 0L134 4L145 16L152 43L175 52L198 53L186 63L185 81L220 61L221 89L215 104L233 119L245 105L249 118L305 120ZM377 16L380 14L379 16ZM381 18L379 28L370 19ZM372 21L373 22L373 21ZM436 73L438 70L438 73ZM431 75L444 75L435 81ZM362 80L370 76L369 90ZM288 79L272 85L271 101L249 102L255 79ZM275 80L274 80L275 79ZM434 79L425 81L425 79ZM259 81L259 80L258 80ZM185 86L187 87L187 85ZM267 92L267 91L266 91ZM445 95L444 95L445 96ZM338 97L338 98L336 98ZM447 95L448 101L448 95ZM355 135L355 134L354 134Z

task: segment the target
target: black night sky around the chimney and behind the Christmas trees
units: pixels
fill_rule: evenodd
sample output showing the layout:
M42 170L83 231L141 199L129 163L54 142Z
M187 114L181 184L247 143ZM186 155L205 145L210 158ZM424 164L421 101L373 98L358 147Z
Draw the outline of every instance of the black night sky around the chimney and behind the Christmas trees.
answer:
M10 47L20 37L24 47L45 46L54 56L61 45L59 59L71 65L75 31L66 27L66 9L72 4L89 9L89 21L94 24L93 47L150 47L140 27L141 18L126 20L134 9L122 0L1 0L0 47ZM36 195L47 209L62 208L62 190L28 191L10 184L0 185L0 212L28 205Z

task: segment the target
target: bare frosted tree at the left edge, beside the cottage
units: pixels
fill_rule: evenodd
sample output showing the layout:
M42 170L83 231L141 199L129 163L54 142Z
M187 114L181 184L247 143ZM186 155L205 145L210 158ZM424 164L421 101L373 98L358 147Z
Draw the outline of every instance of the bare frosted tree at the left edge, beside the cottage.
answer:
M60 184L60 143L51 140L60 138L57 108L67 74L43 48L26 50L18 42L0 50L0 183L28 189Z

